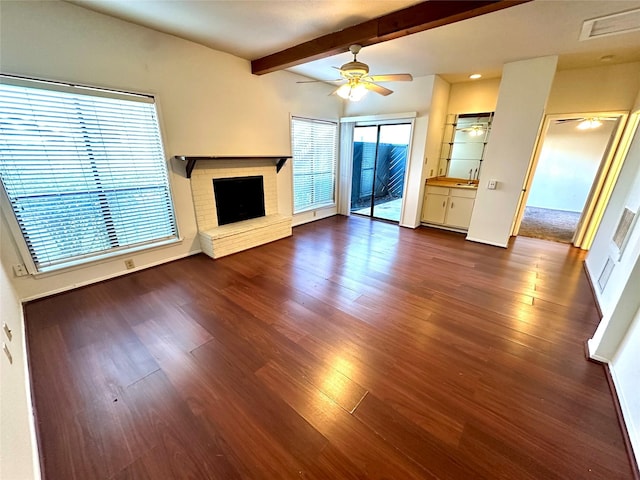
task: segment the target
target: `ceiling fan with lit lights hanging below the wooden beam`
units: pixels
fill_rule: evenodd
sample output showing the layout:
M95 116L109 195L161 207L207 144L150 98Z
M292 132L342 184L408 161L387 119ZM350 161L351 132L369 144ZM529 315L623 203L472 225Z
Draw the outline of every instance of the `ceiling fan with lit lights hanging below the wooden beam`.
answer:
M409 73L369 75L369 65L359 62L356 58L361 49L362 45L351 45L349 51L353 54L353 61L345 63L340 68L334 67L340 72L342 78L337 80L307 80L298 83L344 82L331 92L331 95L337 94L344 99L357 102L369 90L385 96L393 93L393 90L378 85L379 82L410 82L413 80Z

